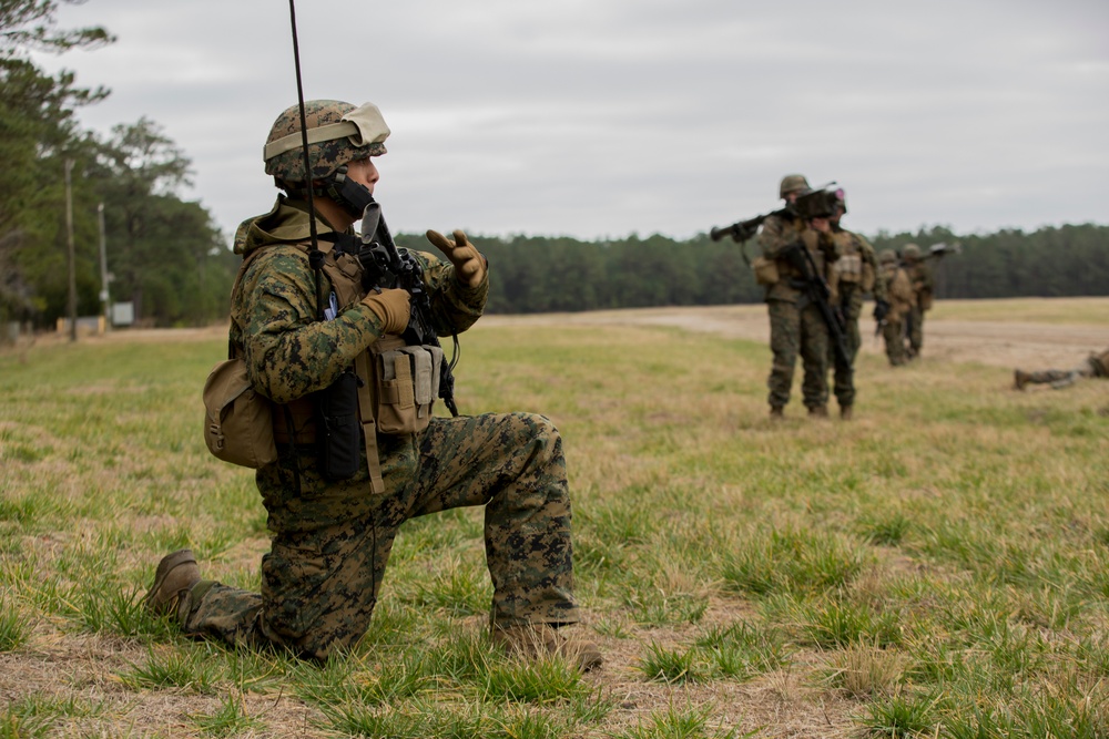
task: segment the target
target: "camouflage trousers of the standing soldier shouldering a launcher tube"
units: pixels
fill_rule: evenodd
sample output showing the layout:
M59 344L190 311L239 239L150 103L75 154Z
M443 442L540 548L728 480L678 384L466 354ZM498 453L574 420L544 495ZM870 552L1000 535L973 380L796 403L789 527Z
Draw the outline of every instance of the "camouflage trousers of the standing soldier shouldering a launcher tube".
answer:
M790 402L793 370L801 355L804 379L801 392L806 408L828 401L828 327L820 308L788 300L769 300L770 349L774 355L767 402L782 408Z

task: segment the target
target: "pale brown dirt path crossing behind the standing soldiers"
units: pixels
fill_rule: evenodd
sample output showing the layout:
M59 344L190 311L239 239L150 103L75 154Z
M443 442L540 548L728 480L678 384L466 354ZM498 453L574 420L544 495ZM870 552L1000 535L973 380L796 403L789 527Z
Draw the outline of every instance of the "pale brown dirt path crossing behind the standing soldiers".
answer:
M770 341L766 308L712 306L692 308L637 308L538 316L487 316L486 326L551 324L570 326L673 326L690 331L719 333L730 339ZM879 355L874 321L859 322L865 353ZM1109 346L1109 329L1089 325L971 321L928 318L924 325L924 356L952 362L980 362L1006 368L1071 368L1095 350Z

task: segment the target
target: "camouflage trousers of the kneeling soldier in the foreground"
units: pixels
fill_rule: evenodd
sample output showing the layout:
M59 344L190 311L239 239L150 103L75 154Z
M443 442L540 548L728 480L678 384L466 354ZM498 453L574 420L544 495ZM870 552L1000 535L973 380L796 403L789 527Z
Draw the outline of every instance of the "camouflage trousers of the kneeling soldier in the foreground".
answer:
M400 524L469 505L485 505L495 622L578 620L566 460L548 419L434 418L417 437L379 442L384 495L370 494L365 464L352 480L322 480L311 447L286 447L260 470L273 534L262 592L202 581L180 604L182 629L324 659L369 626Z

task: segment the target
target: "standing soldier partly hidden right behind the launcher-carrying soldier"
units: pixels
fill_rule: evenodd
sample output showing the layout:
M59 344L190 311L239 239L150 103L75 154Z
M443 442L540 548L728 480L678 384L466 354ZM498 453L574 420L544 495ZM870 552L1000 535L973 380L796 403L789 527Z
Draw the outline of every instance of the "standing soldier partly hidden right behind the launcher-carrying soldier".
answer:
M840 403L840 418L849 420L852 407L855 403L855 380L852 366L858 355L863 340L858 332L858 316L863 312L863 296L874 294L874 312L881 321L889 311L886 301L886 284L879 278L878 259L874 247L865 238L843 228L840 220L847 213L847 201L844 192L837 191L838 204L832 214L832 238L835 242L840 258L832 264L832 276L828 280L832 288L832 307L838 309L845 324L845 339L851 365L845 363L830 346L828 361L834 367L835 382L833 390Z

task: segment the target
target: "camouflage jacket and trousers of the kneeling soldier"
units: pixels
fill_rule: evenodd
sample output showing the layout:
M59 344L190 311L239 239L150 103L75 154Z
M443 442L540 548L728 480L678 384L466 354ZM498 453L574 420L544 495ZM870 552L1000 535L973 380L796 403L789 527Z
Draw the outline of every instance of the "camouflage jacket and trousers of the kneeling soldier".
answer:
M332 232L317 218L321 235ZM433 418L423 432L378 435L386 493L362 470L329 482L316 447L278 433L284 409L328 387L381 338L380 319L362 302L317 320L315 274L305 253L306 206L284 196L240 227L236 250L264 249L243 275L232 305L231 341L242 348L255 388L276 406L279 459L257 471L272 548L262 592L201 581L177 605L183 630L227 644L279 645L316 659L365 633L401 523L436 511L485 505L486 556L496 624L578 620L572 591L570 501L558 430L529 413ZM475 288L454 267L417 253L436 330L449 336L481 315L488 279ZM322 294L330 284L321 275ZM292 413L291 413L292 415ZM294 424L295 425L295 424Z

